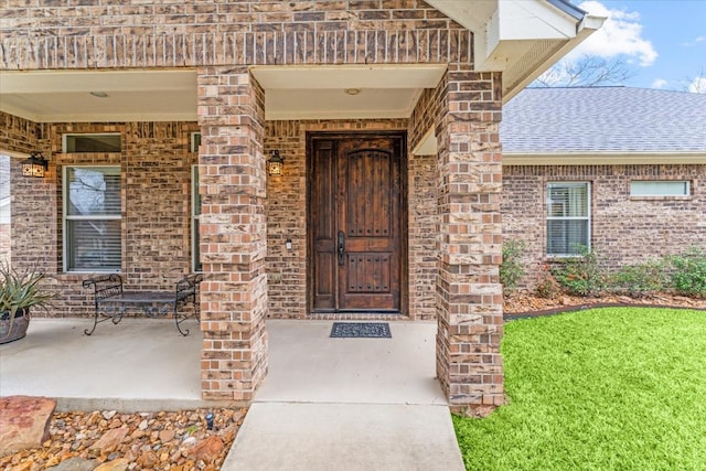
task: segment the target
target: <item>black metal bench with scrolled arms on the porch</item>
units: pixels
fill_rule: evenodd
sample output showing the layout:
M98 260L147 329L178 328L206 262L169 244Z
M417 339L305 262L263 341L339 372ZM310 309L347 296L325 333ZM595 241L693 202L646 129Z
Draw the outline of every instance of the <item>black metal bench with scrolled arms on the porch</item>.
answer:
M141 308L150 318L161 318L172 313L176 330L182 335L189 335L189 329L181 328L181 323L192 317L201 321L199 303L199 283L203 279L201 274L188 275L175 283L173 291L126 291L122 288L122 277L117 274L88 278L83 281L86 289L93 288L94 292L94 323L93 329L84 330L90 335L100 322L107 320L117 324L128 312L129 308ZM191 303L193 311L184 312L184 306Z

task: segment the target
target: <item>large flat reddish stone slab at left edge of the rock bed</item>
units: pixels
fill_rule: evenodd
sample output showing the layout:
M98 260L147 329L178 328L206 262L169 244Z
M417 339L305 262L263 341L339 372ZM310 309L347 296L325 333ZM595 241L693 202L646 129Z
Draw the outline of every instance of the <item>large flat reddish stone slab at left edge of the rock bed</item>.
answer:
M56 400L45 397L0 398L0 457L41 447L50 438L49 426Z

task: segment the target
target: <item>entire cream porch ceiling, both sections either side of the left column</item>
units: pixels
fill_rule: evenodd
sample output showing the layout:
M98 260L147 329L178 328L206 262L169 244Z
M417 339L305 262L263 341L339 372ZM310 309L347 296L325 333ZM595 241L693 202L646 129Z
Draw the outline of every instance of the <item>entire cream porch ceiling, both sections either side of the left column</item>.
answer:
M408 117L446 66L254 67L267 119ZM346 93L347 92L347 93ZM105 94L106 96L96 96ZM3 71L0 110L36 122L196 120L196 71Z

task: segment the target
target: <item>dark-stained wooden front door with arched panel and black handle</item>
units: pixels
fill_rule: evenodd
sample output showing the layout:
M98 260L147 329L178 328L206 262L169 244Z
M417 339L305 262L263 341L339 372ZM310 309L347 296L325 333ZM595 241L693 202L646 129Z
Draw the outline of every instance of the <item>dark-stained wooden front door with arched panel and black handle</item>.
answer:
M403 135L309 137L314 312L400 310Z

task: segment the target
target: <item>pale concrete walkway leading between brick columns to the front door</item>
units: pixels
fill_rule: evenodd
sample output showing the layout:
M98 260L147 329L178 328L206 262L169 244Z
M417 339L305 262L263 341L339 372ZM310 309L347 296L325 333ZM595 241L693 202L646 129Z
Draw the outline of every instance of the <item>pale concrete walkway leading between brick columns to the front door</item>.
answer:
M222 470L463 470L436 324L330 339L331 324L268 322L269 373Z

